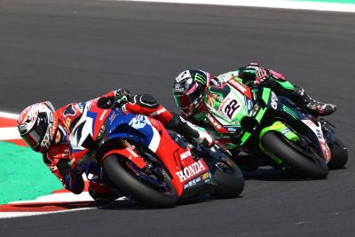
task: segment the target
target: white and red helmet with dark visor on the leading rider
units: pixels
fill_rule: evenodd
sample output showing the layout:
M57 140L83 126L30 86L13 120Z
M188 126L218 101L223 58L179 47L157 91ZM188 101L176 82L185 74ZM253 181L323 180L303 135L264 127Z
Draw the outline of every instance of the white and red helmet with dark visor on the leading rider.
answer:
M58 124L58 117L49 101L26 107L17 121L21 138L40 153L48 151L58 130Z

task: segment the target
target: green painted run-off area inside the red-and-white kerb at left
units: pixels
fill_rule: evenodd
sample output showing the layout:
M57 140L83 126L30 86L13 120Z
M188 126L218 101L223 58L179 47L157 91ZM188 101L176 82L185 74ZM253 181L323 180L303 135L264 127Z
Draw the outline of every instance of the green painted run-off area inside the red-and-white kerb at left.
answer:
M45 166L42 154L0 142L0 204L33 200L60 188L59 179Z

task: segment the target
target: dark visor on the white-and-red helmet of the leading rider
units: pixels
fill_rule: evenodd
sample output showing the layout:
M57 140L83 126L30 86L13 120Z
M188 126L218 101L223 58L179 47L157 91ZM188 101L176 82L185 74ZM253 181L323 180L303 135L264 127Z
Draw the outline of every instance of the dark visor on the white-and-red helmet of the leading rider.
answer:
M42 143L48 129L48 118L46 113L39 113L35 125L25 135L22 136L28 146L35 147Z

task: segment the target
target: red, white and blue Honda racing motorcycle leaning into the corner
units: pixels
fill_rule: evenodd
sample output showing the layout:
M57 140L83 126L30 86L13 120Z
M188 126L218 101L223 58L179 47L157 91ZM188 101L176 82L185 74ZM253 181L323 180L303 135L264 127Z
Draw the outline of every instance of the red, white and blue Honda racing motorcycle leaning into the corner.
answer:
M72 167L83 167L91 182L149 206L172 207L201 194L235 197L244 187L241 170L217 147L170 137L161 122L118 107L88 102L70 143Z

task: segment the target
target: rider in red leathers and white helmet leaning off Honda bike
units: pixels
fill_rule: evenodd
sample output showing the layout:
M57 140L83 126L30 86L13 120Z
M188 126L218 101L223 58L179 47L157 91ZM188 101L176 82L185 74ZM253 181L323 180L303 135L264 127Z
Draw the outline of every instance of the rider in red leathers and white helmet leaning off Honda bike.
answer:
M98 99L71 103L55 111L51 102L45 101L26 107L17 121L20 136L34 151L43 154L43 162L59 178L63 186L74 194L84 189L83 167L71 167L69 135L83 114L86 103L95 103L102 109L122 107L127 113L151 116L170 130L192 138L194 142L213 145L213 138L199 130L179 115L170 113L151 95L130 95L125 89L110 91ZM120 195L98 182L89 182L89 194L97 201L114 201Z

